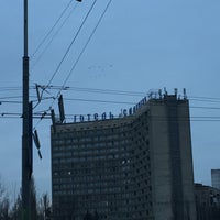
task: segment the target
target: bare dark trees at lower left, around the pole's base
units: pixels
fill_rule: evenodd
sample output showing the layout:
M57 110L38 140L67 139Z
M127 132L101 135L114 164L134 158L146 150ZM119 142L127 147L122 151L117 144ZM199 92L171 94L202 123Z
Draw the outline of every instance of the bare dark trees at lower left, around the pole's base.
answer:
M21 191L11 201L10 193L0 179L0 220L22 220L22 197ZM31 180L31 219L47 220L51 216L51 201L48 194L41 197L36 195L34 179Z

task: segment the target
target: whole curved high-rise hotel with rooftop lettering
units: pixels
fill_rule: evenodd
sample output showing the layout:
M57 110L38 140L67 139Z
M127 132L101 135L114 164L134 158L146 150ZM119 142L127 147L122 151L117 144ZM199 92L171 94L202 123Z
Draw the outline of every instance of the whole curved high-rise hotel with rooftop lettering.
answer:
M196 220L186 97L74 120L52 127L54 220Z

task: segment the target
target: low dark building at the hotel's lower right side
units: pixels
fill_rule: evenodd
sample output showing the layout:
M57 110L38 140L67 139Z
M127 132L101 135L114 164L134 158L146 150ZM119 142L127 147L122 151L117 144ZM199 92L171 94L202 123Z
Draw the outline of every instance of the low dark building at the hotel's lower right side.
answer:
M220 190L195 184L197 220L220 219Z

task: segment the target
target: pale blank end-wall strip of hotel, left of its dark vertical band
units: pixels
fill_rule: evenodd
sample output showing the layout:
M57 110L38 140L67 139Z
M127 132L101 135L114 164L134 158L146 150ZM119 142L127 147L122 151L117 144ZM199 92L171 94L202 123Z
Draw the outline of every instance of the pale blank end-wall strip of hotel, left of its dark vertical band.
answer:
M168 220L173 219L168 120L163 101L150 106L154 216L156 220Z

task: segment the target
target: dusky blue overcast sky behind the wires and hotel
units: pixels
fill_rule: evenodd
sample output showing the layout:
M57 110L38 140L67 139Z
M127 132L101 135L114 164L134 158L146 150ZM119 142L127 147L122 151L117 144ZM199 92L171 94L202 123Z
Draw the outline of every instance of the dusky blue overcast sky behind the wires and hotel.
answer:
M151 89L166 88L173 94L177 88L183 95L186 88L195 182L211 185L211 168L220 168L219 11L219 0L30 1L34 116L50 113L51 108L58 113L59 94L66 121L72 122L74 114L118 114ZM18 191L23 1L0 1L0 176L10 190ZM47 86L40 103L36 84ZM43 155L40 160L34 148L36 189L51 194L51 120L34 118L33 127Z

